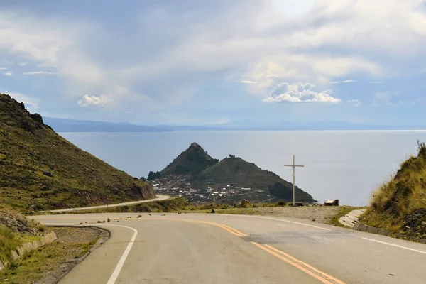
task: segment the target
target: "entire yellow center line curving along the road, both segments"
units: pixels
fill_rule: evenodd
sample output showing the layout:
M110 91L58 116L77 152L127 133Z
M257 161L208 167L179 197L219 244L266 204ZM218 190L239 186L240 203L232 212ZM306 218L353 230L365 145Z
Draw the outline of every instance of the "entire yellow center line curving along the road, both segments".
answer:
M124 217L121 217L124 218ZM39 219L88 219L87 217L41 217ZM92 219L99 219L99 218L92 218ZM136 218L136 217L130 217L126 219L138 219L138 220L165 220L165 221L181 221L181 222L192 222L192 223L200 223L200 224L209 224L212 226L217 226L219 228L222 228L229 233L235 235L244 237L247 236L243 232L232 228L231 226L226 226L224 224L214 223L214 222L208 222L208 221L202 221L202 220L192 220L192 219L173 219L173 218L162 218L162 217L150 217L150 218ZM89 223L93 224L93 223ZM96 225L97 223L95 223ZM104 224L104 223L102 223ZM102 225L99 224L99 225ZM66 224L65 224L66 225ZM325 284L346 284L342 280L339 280L337 278L334 278L332 275L329 275L327 273L324 273L323 271L320 271L319 269L310 266L309 264L300 261L299 259L295 258L294 256L290 256L290 254L285 253L284 251L280 251L279 249L276 249L273 246L270 246L268 244L262 245L256 243L256 241L251 241L251 244L257 246L260 249L263 249L263 251L267 251L268 253L271 253L273 256L280 258L280 260L285 261L286 263L289 263L291 266L294 266L295 268L299 269L300 271L303 271L307 273L308 275L312 276L313 278L316 278L317 280L320 280L322 283Z

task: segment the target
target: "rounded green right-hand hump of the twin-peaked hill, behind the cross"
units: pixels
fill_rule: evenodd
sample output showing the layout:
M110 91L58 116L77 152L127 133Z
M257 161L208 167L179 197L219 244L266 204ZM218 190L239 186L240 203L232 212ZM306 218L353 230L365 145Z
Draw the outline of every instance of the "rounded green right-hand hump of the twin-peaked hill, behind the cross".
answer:
M203 170L197 176L195 184L231 185L231 187L250 187L264 190L283 200L293 200L293 184L280 178L273 172L262 170L254 163L239 157L224 158L219 163ZM315 202L310 194L295 187L296 200Z

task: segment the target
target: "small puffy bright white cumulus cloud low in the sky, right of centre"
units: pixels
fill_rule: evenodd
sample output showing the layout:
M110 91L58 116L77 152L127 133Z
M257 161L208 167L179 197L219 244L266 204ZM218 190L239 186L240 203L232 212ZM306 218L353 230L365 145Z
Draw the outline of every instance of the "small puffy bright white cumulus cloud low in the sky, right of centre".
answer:
M322 92L315 92L314 84L310 83L297 83L278 84L271 92L270 97L262 99L263 102L322 102L329 104L336 104L342 102L341 99L332 97L332 90L325 90Z

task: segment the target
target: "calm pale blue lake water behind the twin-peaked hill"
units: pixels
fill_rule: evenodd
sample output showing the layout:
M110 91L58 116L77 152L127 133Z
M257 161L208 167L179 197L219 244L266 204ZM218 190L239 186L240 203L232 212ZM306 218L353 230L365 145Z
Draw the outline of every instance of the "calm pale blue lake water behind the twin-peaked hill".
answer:
M272 170L320 202L368 204L371 192L388 180L400 162L415 155L426 131L182 131L165 133L60 133L78 147L140 178L162 170L190 143L214 158L229 154Z

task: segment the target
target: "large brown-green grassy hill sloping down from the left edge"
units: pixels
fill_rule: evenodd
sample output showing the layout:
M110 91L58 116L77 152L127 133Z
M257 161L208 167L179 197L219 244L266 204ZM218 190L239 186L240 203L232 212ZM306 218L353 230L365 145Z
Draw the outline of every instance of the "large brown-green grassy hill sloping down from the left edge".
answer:
M0 94L0 202L19 211L155 197L151 185L80 150Z

